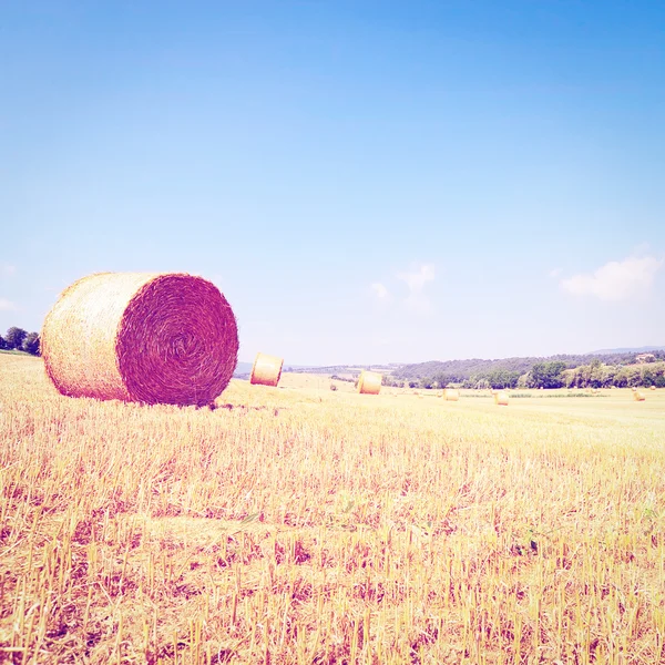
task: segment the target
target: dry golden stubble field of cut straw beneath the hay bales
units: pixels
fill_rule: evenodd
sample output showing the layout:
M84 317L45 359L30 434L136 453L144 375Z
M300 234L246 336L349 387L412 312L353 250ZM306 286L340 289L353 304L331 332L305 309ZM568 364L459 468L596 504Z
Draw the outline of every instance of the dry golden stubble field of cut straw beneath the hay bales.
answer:
M142 407L0 355L0 661L665 661L665 391L329 385Z

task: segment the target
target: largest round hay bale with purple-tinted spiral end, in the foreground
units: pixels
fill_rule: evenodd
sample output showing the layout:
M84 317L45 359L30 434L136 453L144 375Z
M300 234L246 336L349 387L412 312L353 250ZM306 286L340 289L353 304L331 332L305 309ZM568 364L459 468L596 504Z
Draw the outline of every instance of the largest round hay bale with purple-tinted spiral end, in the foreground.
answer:
M203 406L231 380L238 332L226 298L201 277L100 273L62 293L41 349L62 395Z

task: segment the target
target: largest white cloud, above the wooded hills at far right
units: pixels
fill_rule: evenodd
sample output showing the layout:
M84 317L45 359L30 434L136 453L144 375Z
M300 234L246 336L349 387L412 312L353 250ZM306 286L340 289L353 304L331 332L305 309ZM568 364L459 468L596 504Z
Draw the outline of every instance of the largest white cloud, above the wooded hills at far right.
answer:
M655 256L630 256L624 260L611 260L593 274L582 273L562 279L563 290L575 296L593 296L601 300L630 300L646 294L664 265Z

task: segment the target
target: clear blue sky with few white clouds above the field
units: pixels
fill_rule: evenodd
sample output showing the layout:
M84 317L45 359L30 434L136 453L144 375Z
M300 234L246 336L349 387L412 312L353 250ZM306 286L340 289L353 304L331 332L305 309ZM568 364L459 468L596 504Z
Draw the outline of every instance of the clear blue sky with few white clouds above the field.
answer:
M241 359L665 345L665 4L0 1L0 331L213 280Z

